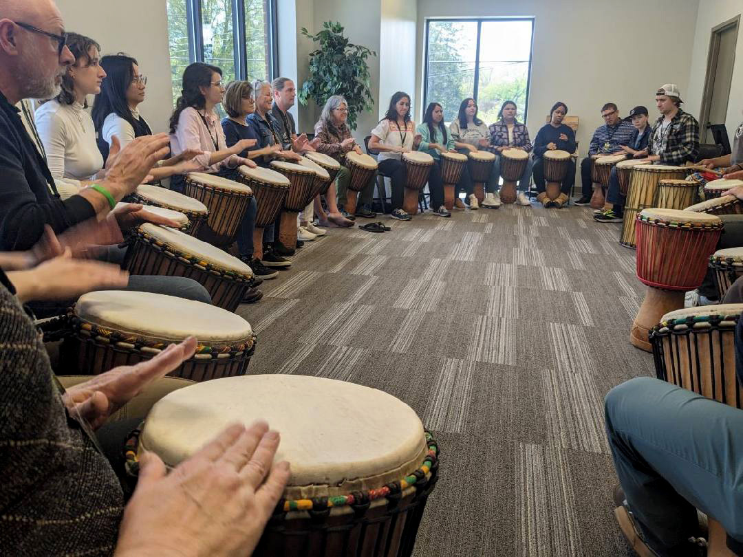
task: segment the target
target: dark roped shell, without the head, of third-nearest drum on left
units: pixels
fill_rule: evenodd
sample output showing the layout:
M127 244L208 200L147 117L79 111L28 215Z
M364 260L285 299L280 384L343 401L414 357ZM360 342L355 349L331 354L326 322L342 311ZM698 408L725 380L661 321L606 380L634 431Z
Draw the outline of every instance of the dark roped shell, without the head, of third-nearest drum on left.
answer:
M167 251L166 246L147 241L138 234L134 235L133 244L126 251L123 268L132 275L192 278L207 289L213 305L227 311L237 309L245 291L253 284L253 280L231 278L192 264Z

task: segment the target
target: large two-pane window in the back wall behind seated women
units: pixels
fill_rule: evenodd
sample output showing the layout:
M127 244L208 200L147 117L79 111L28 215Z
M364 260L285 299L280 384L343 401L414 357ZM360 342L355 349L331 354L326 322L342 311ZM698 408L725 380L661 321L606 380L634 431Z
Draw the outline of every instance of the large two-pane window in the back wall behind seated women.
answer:
M473 97L478 117L493 123L504 100L526 120L533 19L429 19L426 21L424 106L439 102L444 120Z

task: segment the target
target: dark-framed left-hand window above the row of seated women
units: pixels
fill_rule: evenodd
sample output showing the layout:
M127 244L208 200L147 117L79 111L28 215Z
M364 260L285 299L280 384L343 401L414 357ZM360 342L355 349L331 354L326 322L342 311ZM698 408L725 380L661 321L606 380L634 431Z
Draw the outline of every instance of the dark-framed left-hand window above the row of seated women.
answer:
M233 79L273 79L276 0L167 0L173 102L192 62Z

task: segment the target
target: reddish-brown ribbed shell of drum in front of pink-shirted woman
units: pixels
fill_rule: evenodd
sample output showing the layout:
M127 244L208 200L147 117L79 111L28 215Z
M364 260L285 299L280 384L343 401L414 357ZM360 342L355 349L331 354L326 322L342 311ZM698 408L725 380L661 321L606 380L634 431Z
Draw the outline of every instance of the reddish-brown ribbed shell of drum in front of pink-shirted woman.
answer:
M247 211L253 193L232 192L190 180L186 177L184 194L194 198L209 209L206 222L199 227L197 238L216 246L226 246L235 241L237 229Z

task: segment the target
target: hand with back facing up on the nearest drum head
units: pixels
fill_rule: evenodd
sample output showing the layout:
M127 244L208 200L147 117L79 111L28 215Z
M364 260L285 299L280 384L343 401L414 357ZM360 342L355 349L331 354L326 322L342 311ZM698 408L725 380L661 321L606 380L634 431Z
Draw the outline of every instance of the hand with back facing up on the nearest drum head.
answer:
M145 453L115 555L253 553L291 475L288 463L272 465L279 441L265 422L229 426L169 474L160 457Z

